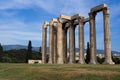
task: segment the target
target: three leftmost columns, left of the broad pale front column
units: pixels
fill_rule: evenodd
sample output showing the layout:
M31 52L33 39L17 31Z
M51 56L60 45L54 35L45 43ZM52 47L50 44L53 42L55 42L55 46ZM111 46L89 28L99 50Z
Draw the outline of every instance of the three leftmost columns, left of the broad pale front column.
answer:
M42 30L42 63L46 63L46 48L47 48L47 26L43 25ZM49 64L57 63L57 30L50 26L49 31Z

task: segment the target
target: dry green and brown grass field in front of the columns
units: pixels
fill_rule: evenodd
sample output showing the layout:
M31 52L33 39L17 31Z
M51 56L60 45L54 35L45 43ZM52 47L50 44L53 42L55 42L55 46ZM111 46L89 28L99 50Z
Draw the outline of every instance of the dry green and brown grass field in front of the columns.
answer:
M0 80L120 80L120 65L0 64Z

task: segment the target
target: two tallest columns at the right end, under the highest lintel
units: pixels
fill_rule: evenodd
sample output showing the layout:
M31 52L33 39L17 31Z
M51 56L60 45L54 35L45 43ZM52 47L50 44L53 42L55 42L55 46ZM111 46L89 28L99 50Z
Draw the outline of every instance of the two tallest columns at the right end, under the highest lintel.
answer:
M95 16L96 12L89 13L90 16L90 63L97 64L96 60L96 26ZM105 49L105 62L103 64L114 64L111 58L111 41L110 41L110 19L109 9L103 9L104 17L104 49Z

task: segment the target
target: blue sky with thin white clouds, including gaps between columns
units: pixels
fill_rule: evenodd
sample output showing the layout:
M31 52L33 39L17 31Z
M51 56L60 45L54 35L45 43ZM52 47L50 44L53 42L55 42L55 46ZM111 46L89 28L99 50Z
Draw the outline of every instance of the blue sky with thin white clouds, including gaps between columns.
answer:
M59 17L60 14L82 14L86 18L90 9L100 4L110 7L110 29L112 50L120 51L120 0L0 0L0 43L33 46L42 44L44 21ZM89 23L85 24L85 47L89 41ZM104 49L103 16L96 16L97 48ZM76 47L78 29L76 28Z

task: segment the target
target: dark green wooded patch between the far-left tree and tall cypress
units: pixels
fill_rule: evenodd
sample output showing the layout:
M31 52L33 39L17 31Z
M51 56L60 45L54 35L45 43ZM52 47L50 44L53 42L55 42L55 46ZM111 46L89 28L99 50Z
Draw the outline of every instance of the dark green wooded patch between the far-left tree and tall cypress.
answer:
M26 53L26 49L4 51L2 62L25 63Z

